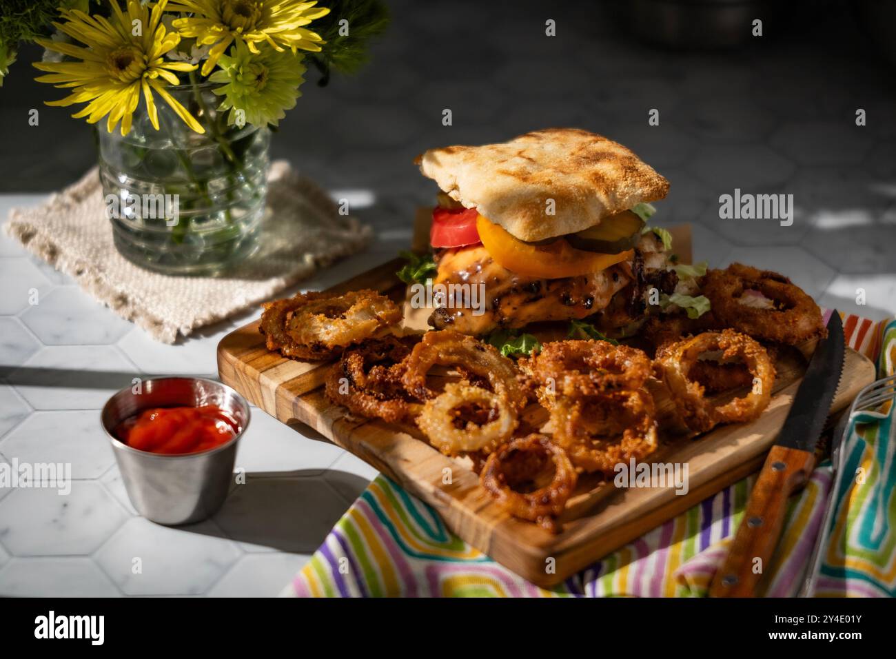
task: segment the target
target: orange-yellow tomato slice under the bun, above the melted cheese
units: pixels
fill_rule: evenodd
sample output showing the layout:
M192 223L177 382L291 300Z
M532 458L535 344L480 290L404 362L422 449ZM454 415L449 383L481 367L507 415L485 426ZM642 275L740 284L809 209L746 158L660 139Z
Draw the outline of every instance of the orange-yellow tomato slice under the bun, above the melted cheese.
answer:
M633 250L619 254L599 254L572 247L564 238L557 238L547 245L533 245L488 220L478 216L476 227L482 247L512 273L543 279L576 277L581 274L599 273L610 265L632 258Z

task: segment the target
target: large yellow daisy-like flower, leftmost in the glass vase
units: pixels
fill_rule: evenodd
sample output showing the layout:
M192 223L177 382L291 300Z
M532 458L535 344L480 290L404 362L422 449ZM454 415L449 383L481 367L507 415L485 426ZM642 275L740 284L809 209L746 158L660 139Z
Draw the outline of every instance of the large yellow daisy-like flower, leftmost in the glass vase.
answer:
M128 134L134 110L140 102L142 91L152 126L159 130L159 112L152 98L156 91L162 99L196 133L205 129L165 89L178 84L175 71L193 71L196 66L186 62L170 62L165 54L175 48L180 36L167 33L161 24L161 15L168 0L159 0L150 9L139 0L128 0L123 13L117 0L109 0L112 15L90 16L78 10L60 10L64 23L53 23L69 37L77 39L84 47L75 44L35 39L48 50L80 59L80 62L37 62L35 67L49 72L36 80L53 83L57 88L72 87L73 93L65 99L47 101L47 105L69 106L87 103L73 117L87 117L90 124L108 115L107 128L111 133L121 121L121 134ZM139 27L139 29L138 29ZM134 34L137 32L137 34Z

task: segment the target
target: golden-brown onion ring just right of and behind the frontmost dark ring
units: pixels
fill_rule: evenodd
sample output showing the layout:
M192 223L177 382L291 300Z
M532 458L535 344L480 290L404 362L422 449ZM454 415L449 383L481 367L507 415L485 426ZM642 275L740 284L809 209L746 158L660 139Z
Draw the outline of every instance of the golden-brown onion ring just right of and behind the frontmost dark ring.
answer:
M560 397L551 410L554 440L585 472L614 473L657 449L653 397L645 389Z

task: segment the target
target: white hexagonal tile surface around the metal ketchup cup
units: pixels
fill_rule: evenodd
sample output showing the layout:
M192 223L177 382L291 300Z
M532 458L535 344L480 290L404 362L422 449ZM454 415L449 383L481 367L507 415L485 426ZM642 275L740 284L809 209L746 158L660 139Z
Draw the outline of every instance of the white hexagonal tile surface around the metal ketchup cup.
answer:
M0 218L39 196L0 197ZM407 230L323 273L325 286L391 258ZM217 516L171 529L137 516L99 408L132 377L217 377L220 338L249 311L168 346L0 235L0 462L68 463L72 488L0 489L0 595L275 595L375 470L312 429L254 408ZM37 297L31 297L34 291ZM36 300L36 304L30 301Z

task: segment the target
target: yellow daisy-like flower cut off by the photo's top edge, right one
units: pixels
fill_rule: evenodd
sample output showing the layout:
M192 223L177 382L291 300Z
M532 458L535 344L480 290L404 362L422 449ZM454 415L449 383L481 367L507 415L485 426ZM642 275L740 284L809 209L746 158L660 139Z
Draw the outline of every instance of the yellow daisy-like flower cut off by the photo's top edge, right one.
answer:
M259 53L258 43L275 50L289 48L294 54L299 48L319 51L321 36L302 27L330 13L315 4L317 0L174 0L168 11L194 14L173 24L183 36L211 46L202 65L202 75L208 75L235 39L245 42L254 55Z

